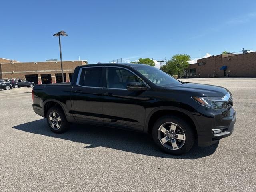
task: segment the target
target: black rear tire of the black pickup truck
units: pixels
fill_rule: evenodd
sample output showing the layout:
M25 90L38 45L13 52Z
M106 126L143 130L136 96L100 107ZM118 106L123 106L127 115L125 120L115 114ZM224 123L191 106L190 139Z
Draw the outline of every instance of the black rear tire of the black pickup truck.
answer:
M58 117L60 117L60 121L55 122L55 124L52 124L53 120L50 120L50 118L51 119L54 118L53 114L55 114L55 116L56 116L55 121L58 121ZM50 130L54 133L64 133L70 127L70 124L66 120L66 116L65 116L63 110L59 107L52 107L48 110L48 112L46 114L46 122L47 122ZM50 122L51 122L51 124L50 124ZM53 127L52 127L52 125L53 125ZM58 127L57 127L57 125L58 125Z

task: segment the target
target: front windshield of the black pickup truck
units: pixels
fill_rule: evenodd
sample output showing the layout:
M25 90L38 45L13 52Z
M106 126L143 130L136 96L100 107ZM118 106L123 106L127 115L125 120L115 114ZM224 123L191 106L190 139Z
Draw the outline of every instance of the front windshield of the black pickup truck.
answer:
M152 66L134 66L133 68L157 86L174 86L182 84L169 74Z

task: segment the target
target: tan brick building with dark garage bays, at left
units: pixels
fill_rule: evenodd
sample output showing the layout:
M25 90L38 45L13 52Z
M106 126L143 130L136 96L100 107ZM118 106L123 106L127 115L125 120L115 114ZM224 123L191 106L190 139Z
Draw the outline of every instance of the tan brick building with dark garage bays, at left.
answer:
M88 64L87 61L63 61L64 82L70 82L74 68ZM18 62L0 58L0 79L15 79L38 83L62 82L60 61Z

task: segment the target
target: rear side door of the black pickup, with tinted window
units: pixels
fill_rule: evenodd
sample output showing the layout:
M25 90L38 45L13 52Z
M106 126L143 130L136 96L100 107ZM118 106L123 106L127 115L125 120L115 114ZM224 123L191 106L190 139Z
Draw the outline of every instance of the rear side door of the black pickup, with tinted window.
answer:
M103 124L102 119L103 67L80 68L72 88L72 114L79 123Z

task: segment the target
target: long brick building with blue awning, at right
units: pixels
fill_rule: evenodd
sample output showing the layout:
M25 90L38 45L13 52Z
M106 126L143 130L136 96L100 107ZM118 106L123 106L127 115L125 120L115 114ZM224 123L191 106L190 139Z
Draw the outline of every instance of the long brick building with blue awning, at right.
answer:
M198 59L184 71L191 77L250 77L256 76L256 52L224 54Z

